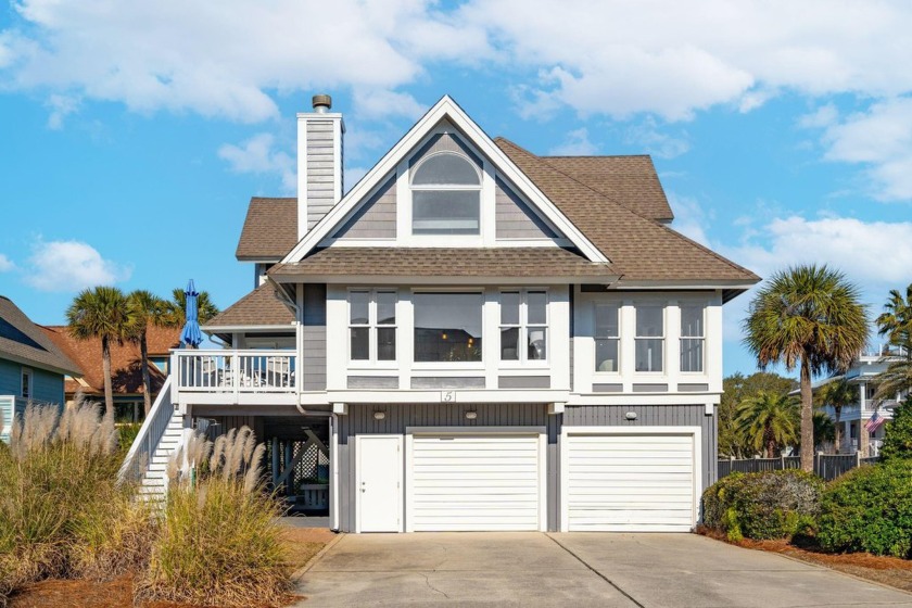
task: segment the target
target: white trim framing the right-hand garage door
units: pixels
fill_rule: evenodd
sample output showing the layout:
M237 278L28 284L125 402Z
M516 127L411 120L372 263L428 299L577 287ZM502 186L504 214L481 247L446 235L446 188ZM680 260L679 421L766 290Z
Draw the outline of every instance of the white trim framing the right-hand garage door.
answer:
M570 531L570 451L569 435L692 435L694 438L694 501L692 520L696 527L700 514L702 487L702 429L700 427L562 427L560 430L560 531ZM649 527L650 531L679 532L677 527ZM633 530L631 530L633 532Z

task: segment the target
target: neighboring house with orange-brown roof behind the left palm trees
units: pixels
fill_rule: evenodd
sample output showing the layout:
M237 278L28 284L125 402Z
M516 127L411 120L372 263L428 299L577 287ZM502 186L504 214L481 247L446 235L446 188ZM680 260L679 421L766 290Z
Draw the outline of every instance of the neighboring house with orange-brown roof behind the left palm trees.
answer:
M43 328L47 337L76 362L80 373L67 376L65 383L66 403L73 403L81 392L88 398L104 403L104 368L101 358L101 339L79 340L69 334L66 326ZM168 372L170 350L180 341L179 328L150 327L147 332L149 350L149 373L152 379L152 401L162 390ZM114 392L114 409L118 422L142 420L144 408L142 394L142 368L139 344L111 342L111 387Z

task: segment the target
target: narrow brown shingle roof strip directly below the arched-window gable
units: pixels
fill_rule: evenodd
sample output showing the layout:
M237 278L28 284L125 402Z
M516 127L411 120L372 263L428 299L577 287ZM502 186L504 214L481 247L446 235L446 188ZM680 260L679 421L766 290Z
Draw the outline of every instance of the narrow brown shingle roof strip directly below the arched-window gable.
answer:
M280 264L274 277L579 277L598 280L617 275L609 264L593 264L557 248L344 248L318 251L293 264Z

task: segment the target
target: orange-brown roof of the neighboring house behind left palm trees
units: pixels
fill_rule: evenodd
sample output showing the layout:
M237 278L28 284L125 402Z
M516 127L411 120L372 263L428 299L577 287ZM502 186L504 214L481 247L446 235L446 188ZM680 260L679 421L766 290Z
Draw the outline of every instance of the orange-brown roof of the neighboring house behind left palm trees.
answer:
M66 353L78 365L83 382L67 379L64 391L67 395L78 389L89 395L104 394L104 368L101 360L101 340L89 338L78 340L69 334L66 326L42 327L45 335ZM150 327L145 332L149 356L169 355L170 349L180 344L180 328ZM157 393L165 381L165 376L150 365L149 375L152 378L152 392ZM85 384L88 384L85 385ZM132 342L111 342L111 384L114 394L142 394L142 370L140 368L139 344Z

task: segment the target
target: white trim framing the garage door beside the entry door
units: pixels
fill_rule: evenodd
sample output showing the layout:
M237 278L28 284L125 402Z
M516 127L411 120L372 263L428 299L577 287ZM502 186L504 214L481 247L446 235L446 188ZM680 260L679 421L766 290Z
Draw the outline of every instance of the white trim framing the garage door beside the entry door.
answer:
M406 427L405 428L405 470L408 477L405 482L405 531L414 532L411 518L415 507L415 496L411 483L411 472L415 470L415 454L413 442L419 434L452 434L452 435L537 435L539 438L539 531L548 531L548 434L547 427Z

